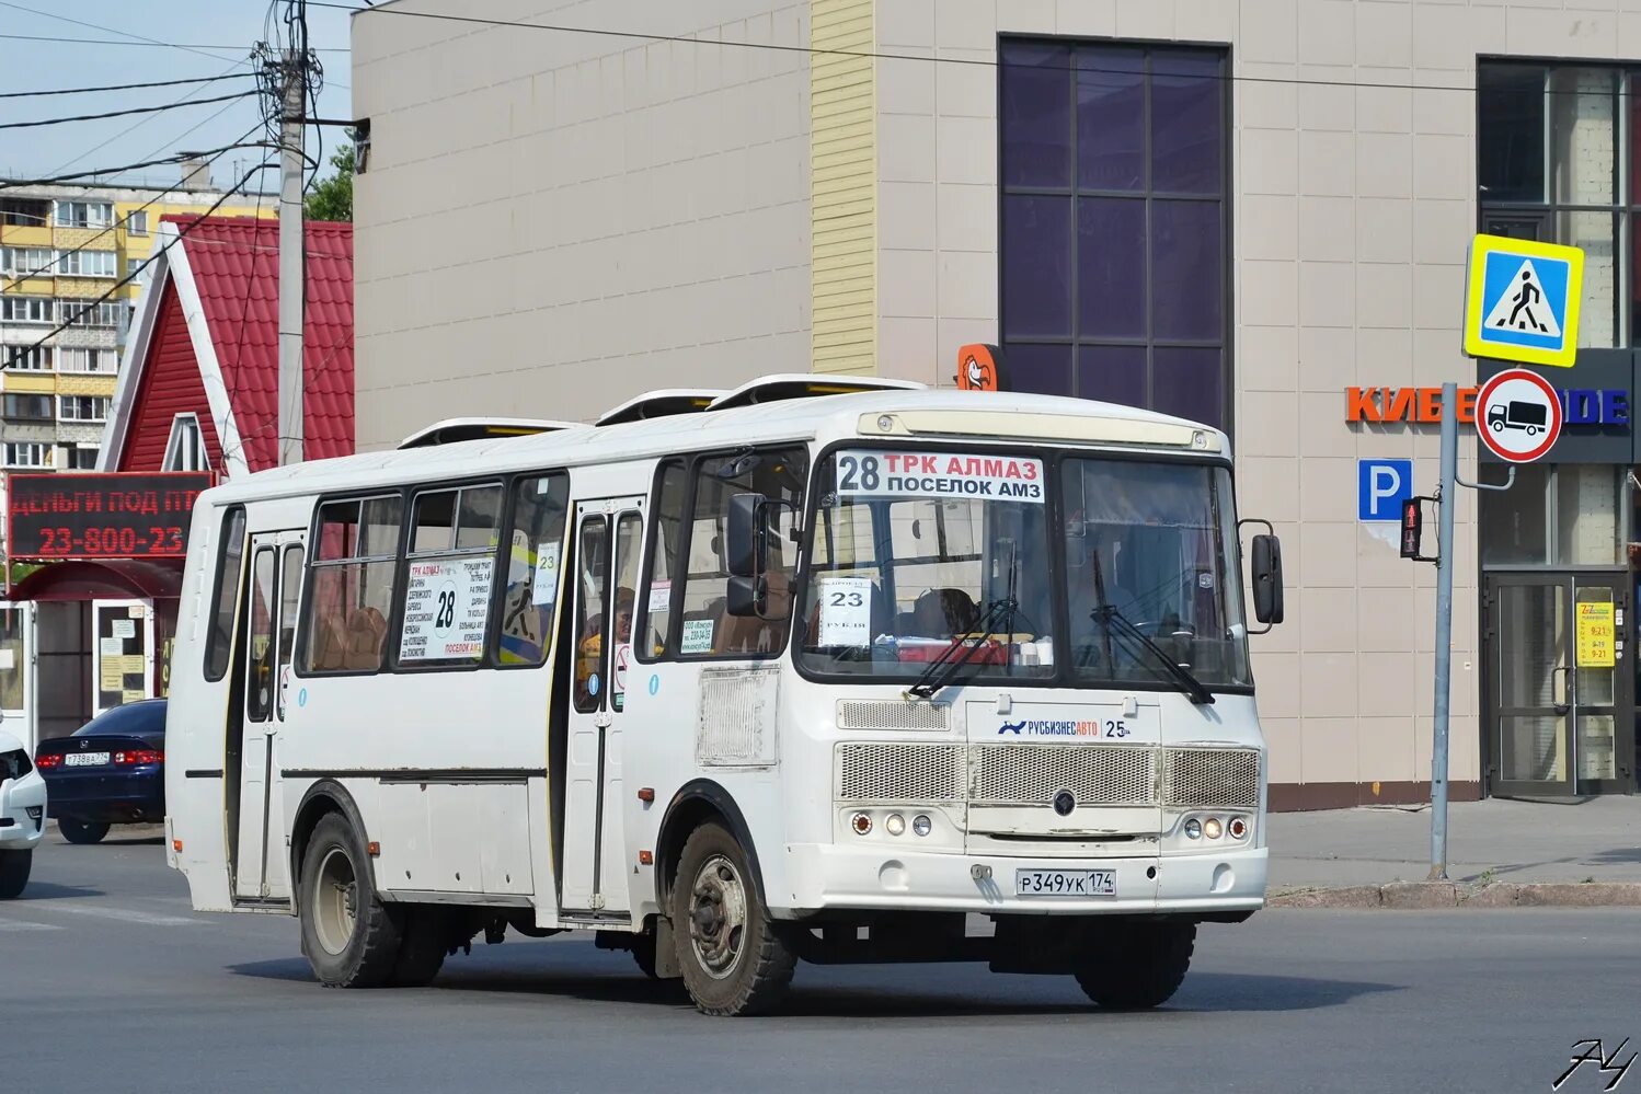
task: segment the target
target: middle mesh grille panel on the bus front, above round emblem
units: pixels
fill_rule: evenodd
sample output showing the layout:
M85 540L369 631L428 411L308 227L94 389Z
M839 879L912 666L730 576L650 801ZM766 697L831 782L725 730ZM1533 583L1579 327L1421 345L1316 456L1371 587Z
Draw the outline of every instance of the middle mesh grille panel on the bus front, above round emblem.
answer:
M1070 791L1080 805L1155 804L1157 750L1144 745L976 745L975 805L1047 805Z

